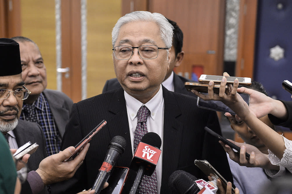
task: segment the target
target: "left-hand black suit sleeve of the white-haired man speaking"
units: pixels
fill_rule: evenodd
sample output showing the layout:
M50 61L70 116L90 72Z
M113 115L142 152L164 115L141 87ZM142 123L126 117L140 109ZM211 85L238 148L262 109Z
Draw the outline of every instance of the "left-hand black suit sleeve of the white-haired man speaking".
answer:
M80 140L82 140L83 134L81 132L81 125L79 119L79 113L77 104L73 104L72 111L70 113L69 123L66 126L66 130L62 139L62 148L61 150L66 149L70 146L75 146ZM86 183L86 167L85 160L83 164L76 171L74 176L66 181L62 181L56 184L51 185L52 193L78 193L83 191L84 189L88 190L89 188L85 188Z

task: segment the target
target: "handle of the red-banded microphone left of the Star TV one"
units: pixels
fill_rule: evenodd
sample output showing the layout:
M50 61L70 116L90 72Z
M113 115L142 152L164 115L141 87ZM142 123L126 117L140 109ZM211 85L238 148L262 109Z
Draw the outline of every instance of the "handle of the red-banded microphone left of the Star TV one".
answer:
M115 162L117 161L117 159L120 157L120 155L121 154L118 151L116 151L114 149L108 149L104 162L109 163L113 167L115 165ZM95 182L92 186L92 190L95 190L95 194L100 193L100 191L103 188L103 185L105 184L105 182L109 178L111 171L112 171L112 169L110 169L108 172L104 171L104 170L98 171L98 175L97 175Z

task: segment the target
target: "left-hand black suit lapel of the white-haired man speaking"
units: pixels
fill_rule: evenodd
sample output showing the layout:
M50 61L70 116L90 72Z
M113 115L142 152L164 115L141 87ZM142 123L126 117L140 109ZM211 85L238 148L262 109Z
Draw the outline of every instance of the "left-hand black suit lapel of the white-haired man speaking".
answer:
M118 89L115 92L109 104L108 111L114 114L111 117L111 121L107 123L111 137L121 135L126 139L127 142L126 149L122 154L122 157L119 159L119 164L123 166L128 166L131 163L133 154L131 148L131 137L127 116L126 101L124 97L124 90L122 88Z

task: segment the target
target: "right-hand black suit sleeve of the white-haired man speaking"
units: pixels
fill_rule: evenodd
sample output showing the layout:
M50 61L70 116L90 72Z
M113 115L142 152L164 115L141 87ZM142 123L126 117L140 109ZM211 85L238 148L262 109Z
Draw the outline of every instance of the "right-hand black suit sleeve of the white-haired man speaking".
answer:
M218 117L215 111L208 111L209 116L206 126L214 132L222 135ZM233 177L227 160L226 152L219 144L219 140L205 131L204 135L204 153L202 155L206 160L227 180L233 184Z

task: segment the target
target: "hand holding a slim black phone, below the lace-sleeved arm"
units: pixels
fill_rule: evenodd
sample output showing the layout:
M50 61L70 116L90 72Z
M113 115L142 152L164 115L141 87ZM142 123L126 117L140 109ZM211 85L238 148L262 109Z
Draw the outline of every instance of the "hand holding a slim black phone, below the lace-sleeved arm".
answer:
M229 154L230 159L238 163L239 165L246 167L260 167L269 170L279 170L279 166L271 164L267 154L263 154L258 148L254 147L253 145L234 142L232 140L228 141L240 147L239 154L235 153L233 149L224 142L219 141L219 143ZM245 157L246 152L250 154L249 160Z

